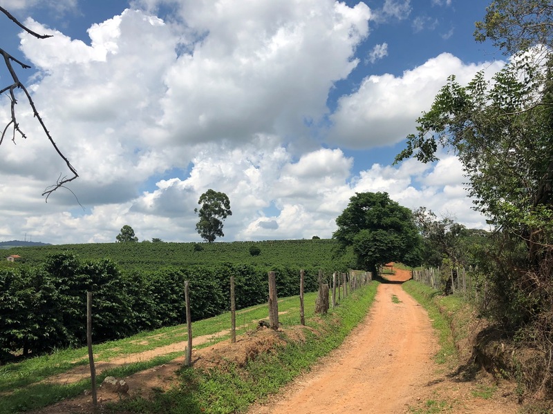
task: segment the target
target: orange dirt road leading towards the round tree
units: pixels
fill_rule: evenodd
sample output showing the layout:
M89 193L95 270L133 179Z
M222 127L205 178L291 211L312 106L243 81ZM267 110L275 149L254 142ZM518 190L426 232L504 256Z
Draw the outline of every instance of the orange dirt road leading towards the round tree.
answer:
M396 270L388 279L409 278L409 272ZM438 379L433 361L437 351L438 340L424 308L400 283L381 284L371 312L339 351L270 402L253 406L249 414L413 412L409 407L427 401L430 388L444 381ZM457 385L453 388L449 391L454 395L447 398L466 397ZM516 413L512 406L503 411L501 404L486 401L491 405L484 407L482 401L464 402L463 411L447 412Z

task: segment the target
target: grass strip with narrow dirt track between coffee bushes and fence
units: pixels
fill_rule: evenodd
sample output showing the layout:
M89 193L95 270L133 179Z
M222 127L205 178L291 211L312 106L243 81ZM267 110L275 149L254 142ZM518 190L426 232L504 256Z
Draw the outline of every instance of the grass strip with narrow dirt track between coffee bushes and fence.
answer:
M313 317L315 293L305 296L306 318ZM281 323L299 324L299 297L279 299ZM253 306L236 315L237 334L255 331L259 319L268 318L267 304ZM194 349L212 346L229 338L229 313L192 324ZM205 338L204 340L198 340ZM128 376L152 366L167 364L184 354L187 327L184 325L144 331L126 339L94 346L97 380ZM76 397L91 387L87 348L68 348L50 355L0 366L0 414L28 411L63 398ZM182 364L182 361L178 365ZM29 398L29 395L33 395Z

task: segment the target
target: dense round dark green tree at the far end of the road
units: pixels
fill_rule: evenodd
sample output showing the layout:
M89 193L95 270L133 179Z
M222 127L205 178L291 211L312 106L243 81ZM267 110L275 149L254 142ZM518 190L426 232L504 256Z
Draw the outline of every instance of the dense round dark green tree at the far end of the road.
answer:
M373 274L388 262L420 263L421 237L411 210L388 193L356 193L336 224L332 237L344 248L353 248L357 266Z

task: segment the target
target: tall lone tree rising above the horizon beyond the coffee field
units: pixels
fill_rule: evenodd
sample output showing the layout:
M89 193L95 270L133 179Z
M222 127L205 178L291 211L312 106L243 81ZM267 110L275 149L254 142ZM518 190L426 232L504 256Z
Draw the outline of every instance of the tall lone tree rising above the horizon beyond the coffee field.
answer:
M232 215L230 210L229 197L225 193L207 190L200 196L198 204L201 208L194 208L194 213L198 213L200 221L196 223L198 234L209 243L215 241L216 237L223 237L223 221Z

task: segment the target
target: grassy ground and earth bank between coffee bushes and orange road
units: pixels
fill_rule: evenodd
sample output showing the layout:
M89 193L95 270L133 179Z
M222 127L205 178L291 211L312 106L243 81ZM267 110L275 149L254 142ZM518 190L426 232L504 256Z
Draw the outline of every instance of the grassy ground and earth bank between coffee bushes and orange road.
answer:
M279 298L279 332L256 328L260 319L268 317L267 304L245 308L236 315L236 344L229 343L229 313L194 322L191 369L182 367L186 326L161 328L97 344L94 353L98 382L107 375L124 377L132 396L123 396L120 406L108 407L106 403L120 402L121 397L100 389L103 408L124 413L243 412L254 400L276 392L339 346L366 315L376 288L377 283L373 282L350 292L323 317L314 313L317 294L307 293L304 299L307 326L303 328L299 326L299 297ZM69 348L0 366L0 414L36 410L66 399L69 400L38 412L94 412L91 395L83 393L91 388L86 353L86 348ZM234 357L238 359L234 361ZM244 362L238 362L243 357ZM225 368L221 371L205 366L214 360ZM251 372L234 375L227 371L238 366ZM152 400L143 400L144 397Z

